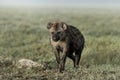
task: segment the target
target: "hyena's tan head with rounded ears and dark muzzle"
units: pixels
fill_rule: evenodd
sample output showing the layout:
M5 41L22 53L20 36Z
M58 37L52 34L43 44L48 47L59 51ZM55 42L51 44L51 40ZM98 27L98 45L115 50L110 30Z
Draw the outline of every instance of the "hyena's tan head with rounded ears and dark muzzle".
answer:
M47 29L50 32L52 40L57 42L61 39L64 31L67 29L67 24L64 22L49 22L47 24Z

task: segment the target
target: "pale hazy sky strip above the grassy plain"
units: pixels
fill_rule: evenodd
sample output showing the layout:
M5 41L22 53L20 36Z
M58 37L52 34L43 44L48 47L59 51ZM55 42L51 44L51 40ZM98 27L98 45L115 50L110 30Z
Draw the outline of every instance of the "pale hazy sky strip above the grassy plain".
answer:
M120 0L0 0L4 6L113 6Z

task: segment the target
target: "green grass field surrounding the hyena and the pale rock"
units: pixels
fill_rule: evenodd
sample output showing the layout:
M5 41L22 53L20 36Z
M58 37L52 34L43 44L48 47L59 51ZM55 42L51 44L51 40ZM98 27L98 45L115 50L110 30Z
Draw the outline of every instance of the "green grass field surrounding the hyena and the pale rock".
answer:
M68 58L64 73L58 72L46 29L55 20L76 26L85 37L79 69ZM44 68L18 68L23 58ZM120 10L0 7L0 80L119 79Z

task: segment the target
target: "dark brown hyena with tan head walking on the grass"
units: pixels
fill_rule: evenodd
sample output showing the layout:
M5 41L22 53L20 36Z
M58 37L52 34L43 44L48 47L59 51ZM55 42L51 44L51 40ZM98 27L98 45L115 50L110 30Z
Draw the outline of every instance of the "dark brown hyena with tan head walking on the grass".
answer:
M60 72L64 71L67 57L78 68L85 42L82 33L76 27L61 21L48 23L47 29Z

